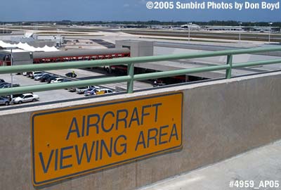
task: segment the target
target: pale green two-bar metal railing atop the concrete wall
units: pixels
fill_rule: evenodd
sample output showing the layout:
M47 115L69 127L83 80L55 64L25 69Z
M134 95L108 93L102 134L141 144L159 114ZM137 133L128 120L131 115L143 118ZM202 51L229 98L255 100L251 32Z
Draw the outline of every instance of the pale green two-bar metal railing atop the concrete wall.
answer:
M171 77L176 75L186 75L198 72L211 72L216 70L226 70L226 78L231 78L231 72L233 68L244 68L256 65L268 65L274 63L281 63L281 58L267 61L255 61L246 63L235 63L233 64L233 56L244 53L260 53L266 51L281 51L281 47L275 48L255 48L255 49L237 49L228 51L212 51L204 53L192 53L192 54L173 54L167 56L146 56L137 58L115 58L107 60L96 60L96 61L75 61L75 62L63 62L63 63L45 63L45 64L34 64L34 65L15 65L15 66L3 66L0 67L0 74L4 73L16 73L16 72L29 72L29 71L40 71L40 70L60 70L66 68L91 68L105 65L127 65L128 75L120 77L103 77L100 79L92 80L80 80L72 82L63 82L56 84L39 84L24 87L13 87L7 89L0 89L0 96L8 94L20 94L30 91L48 91L54 89L66 89L70 87L84 87L89 85L98 84L109 84L116 82L127 82L127 92L133 92L133 81L134 80L148 80L156 79L159 77ZM189 68L181 70L170 70L163 72L152 72L145 74L134 75L133 68L135 63L148 63L157 61L170 61L178 59L192 59L192 58L207 58L214 56L227 56L226 65L212 65L208 67L200 68Z

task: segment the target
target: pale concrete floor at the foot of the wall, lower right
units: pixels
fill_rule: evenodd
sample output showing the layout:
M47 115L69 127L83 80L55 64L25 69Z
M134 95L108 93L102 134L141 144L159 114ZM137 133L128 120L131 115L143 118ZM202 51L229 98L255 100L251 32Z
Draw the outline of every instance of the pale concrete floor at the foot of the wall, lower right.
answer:
M281 189L281 141L138 190Z

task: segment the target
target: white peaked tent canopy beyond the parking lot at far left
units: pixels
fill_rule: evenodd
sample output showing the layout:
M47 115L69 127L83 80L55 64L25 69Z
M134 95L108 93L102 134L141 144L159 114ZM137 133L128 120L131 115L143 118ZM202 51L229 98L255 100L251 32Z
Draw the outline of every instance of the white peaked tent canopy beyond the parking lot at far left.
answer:
M0 40L0 46L2 47L18 47L19 49L24 49L26 51L58 51L58 49L56 49L54 46L49 47L49 46L44 46L44 47L34 47L34 46L30 46L27 43L18 43L18 44L9 44L6 42L3 42Z

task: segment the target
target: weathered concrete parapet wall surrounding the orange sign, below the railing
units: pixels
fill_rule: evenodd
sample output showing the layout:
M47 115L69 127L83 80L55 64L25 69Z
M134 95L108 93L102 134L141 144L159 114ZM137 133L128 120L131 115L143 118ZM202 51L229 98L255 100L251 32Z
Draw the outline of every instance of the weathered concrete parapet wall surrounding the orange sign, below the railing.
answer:
M281 72L102 97L91 101L122 99L163 91L183 91L184 94L181 151L74 177L41 189L136 189L281 138ZM30 160L32 111L83 103L89 103L89 99L0 113L0 189L35 189L32 186Z

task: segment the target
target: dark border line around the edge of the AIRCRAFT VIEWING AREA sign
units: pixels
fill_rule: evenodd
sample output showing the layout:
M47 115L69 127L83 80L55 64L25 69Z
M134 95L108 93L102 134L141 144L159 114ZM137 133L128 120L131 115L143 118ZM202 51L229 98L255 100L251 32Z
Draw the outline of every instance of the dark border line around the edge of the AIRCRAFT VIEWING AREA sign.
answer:
M143 156L129 158L129 159L126 159L126 160L119 161L117 163L110 163L108 165L103 165L103 166L100 166L100 167L93 167L89 170L83 170L81 172L75 172L75 173L70 174L70 175L63 175L61 177L55 177L53 179L48 179L48 180L45 180L45 181L42 181L42 182L36 181L36 179L35 179L36 178L35 177L35 161L34 161L34 159L35 159L34 158L34 118L35 117L37 117L39 115L61 113L61 112L65 112L65 111L80 110L80 109L84 109L84 108L96 108L96 107L100 107L100 106L108 106L108 105L112 105L112 104L126 103L126 102L130 102L130 101L139 101L139 100L143 100L143 99L152 99L152 98L157 98L157 97L162 97L162 96L170 96L170 95L175 95L175 94L181 94L181 144L179 146L167 148L167 149L164 149L162 151L148 153L148 154L145 154ZM103 101L101 103L89 103L89 104L85 104L85 105L82 105L82 106L73 106L71 108L54 108L54 109L50 109L50 110L43 110L43 111L39 111L39 113L32 113L32 115L30 117L30 120L31 120L31 140L32 140L31 141L32 183L33 183L34 186L41 186L41 185L44 185L44 184L50 184L52 182L58 182L58 181L63 180L63 179L68 179L70 177L76 177L76 176L79 176L79 175L85 175L85 174L90 173L90 172L103 170L103 169L106 169L108 167L114 167L115 165L122 165L122 164L125 164L125 163L130 163L134 160L141 160L141 159L144 159L144 158L157 156L157 155L159 155L161 153L165 153L167 151L173 151L173 150L176 150L176 149L180 149L183 146L183 92L179 91L179 92L174 92L174 93L148 95L148 96L141 96L140 98L132 97L132 98L129 98L129 99L121 99L120 101L119 100L113 100L113 101L110 101L110 102Z

